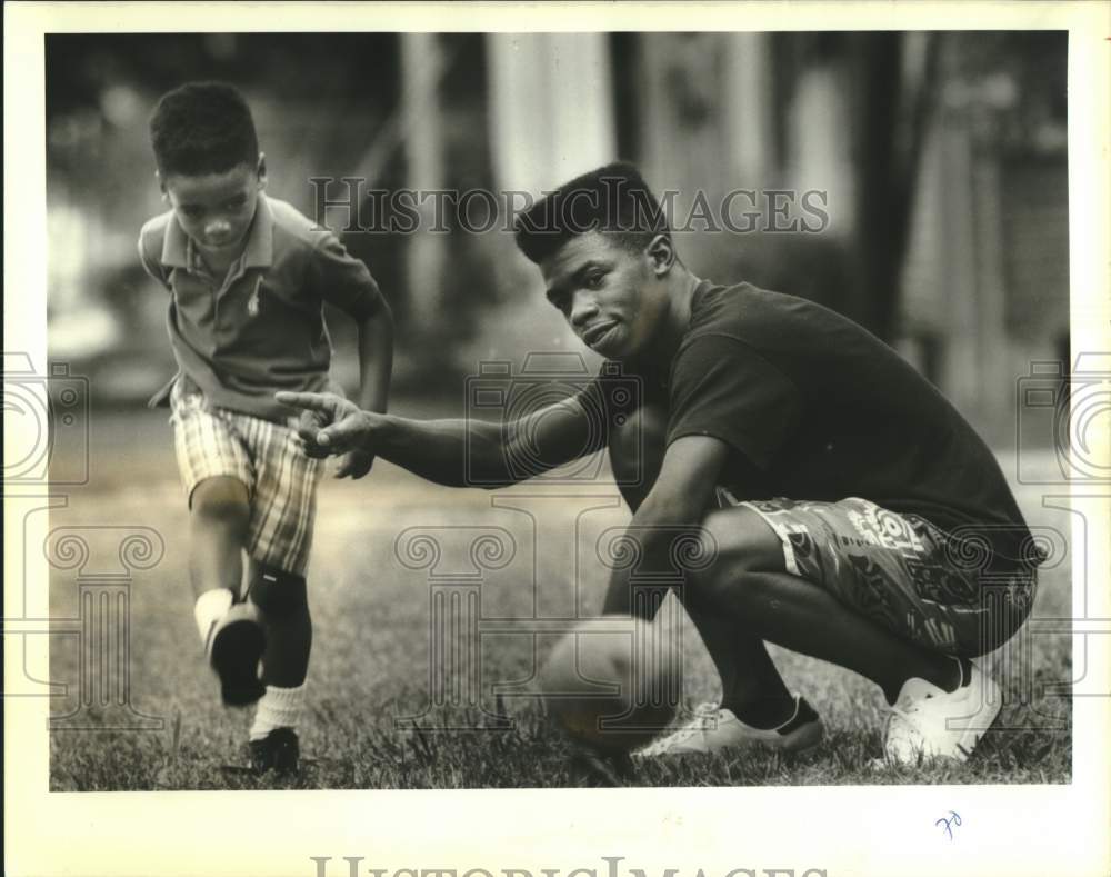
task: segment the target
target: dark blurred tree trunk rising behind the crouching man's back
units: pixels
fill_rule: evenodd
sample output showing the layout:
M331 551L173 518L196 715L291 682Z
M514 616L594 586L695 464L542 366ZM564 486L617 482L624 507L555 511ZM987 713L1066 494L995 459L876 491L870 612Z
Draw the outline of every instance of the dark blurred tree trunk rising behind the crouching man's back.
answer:
M849 56L857 166L853 316L891 340L933 104L938 34L854 33Z

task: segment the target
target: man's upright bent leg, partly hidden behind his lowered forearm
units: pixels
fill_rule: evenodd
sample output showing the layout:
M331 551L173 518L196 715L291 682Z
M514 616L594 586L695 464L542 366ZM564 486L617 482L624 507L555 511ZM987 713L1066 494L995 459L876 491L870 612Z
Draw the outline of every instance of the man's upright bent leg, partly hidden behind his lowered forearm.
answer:
M660 474L665 429L660 411L642 408L611 439L610 465L633 512ZM777 550L782 556L782 549ZM721 677L721 706L757 728L771 728L791 718L794 698L763 640L743 620L724 618L713 606L703 607L684 596L683 608Z

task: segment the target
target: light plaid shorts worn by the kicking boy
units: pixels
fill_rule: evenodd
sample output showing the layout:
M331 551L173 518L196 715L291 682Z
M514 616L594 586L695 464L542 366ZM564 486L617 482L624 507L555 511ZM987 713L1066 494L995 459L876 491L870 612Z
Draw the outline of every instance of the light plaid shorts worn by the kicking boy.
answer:
M174 448L186 495L229 476L247 486L251 504L247 550L258 562L303 576L309 564L317 485L323 467L306 457L297 433L281 423L206 407L177 381L170 393Z

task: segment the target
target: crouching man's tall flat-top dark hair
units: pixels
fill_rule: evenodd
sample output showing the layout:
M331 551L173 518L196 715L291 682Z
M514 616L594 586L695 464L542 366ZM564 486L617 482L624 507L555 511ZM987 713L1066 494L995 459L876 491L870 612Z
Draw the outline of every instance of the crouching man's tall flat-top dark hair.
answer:
M539 265L578 235L600 231L642 252L657 235L671 232L659 201L633 165L615 161L575 177L522 211L517 246Z

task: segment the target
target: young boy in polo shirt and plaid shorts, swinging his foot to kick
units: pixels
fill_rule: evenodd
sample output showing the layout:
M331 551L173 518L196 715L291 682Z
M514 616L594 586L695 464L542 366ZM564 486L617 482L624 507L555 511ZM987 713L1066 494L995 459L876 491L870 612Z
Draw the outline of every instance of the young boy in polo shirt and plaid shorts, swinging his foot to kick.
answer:
M197 628L223 702L258 702L253 768L293 773L312 641L304 576L321 468L297 446L289 410L273 393L334 391L327 301L359 327L359 405L384 411L392 317L367 267L334 236L263 195L266 158L234 88L192 82L170 91L150 134L170 210L143 226L139 257L170 292L178 362L151 406L172 411ZM353 450L337 477L362 478L372 462L372 452Z

